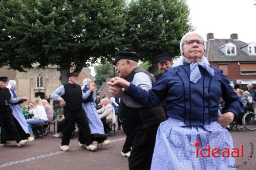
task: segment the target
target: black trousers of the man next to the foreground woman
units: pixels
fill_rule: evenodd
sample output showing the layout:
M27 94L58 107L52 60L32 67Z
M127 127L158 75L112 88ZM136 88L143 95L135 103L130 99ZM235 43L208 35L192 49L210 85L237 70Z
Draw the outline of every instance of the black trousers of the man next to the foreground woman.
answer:
M133 149L128 158L130 170L150 169L158 126L143 128L133 134Z

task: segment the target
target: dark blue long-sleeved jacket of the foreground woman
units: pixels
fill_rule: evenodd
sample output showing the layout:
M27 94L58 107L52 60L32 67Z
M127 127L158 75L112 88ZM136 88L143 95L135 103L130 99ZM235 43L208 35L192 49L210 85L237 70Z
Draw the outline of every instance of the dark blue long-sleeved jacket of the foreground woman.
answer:
M189 81L189 63L168 68L150 91L131 83L125 94L144 107L167 102L167 116L184 120L186 125L209 125L218 119L220 98L225 101L225 112L238 115L243 104L218 68L211 76L199 66L202 77L196 84Z

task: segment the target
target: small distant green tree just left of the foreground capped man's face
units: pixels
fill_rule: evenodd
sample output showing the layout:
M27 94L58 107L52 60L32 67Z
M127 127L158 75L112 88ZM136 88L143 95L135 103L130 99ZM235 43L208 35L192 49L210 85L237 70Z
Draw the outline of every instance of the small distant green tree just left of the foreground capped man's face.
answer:
M98 89L107 78L112 78L115 76L114 67L111 62L104 62L100 65L96 65L94 66L94 69L94 82L96 83Z

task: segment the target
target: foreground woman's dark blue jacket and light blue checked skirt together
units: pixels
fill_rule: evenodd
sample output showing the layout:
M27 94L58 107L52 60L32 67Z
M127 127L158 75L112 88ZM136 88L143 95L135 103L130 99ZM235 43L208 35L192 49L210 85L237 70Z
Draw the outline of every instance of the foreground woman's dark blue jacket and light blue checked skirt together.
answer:
M150 91L131 83L125 94L144 107L167 103L168 119L161 123L154 148L151 169L230 169L232 157L196 157L202 147L233 148L232 137L219 123L220 98L225 101L225 112L238 115L243 105L221 70L212 67L215 76L199 67L202 77L195 84L189 81L189 63L169 68ZM200 145L196 147L195 142ZM203 152L206 155L205 152Z

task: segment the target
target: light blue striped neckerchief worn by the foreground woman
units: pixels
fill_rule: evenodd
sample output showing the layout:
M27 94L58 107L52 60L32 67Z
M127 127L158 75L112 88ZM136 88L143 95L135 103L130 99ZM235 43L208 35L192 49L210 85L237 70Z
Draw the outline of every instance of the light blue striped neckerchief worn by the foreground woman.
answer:
M198 65L201 65L211 76L215 75L214 69L212 69L208 64L203 62L197 62L190 64L190 81L197 83L197 81L202 77Z

